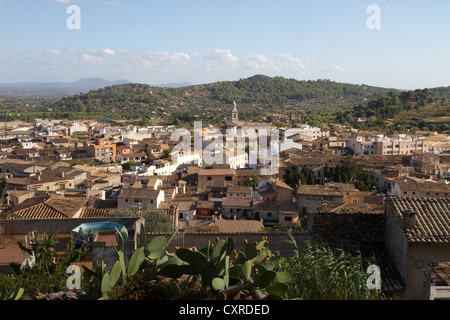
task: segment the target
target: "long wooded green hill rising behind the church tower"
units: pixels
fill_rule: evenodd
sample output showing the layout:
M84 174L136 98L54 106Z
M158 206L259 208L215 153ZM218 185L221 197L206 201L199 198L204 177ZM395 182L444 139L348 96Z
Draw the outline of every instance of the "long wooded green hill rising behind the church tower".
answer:
M228 116L236 101L241 115L257 119L271 112L319 113L351 108L388 94L392 89L337 83L329 80L298 81L256 75L182 88L123 84L65 97L46 106L53 112L95 112L127 117L160 117L180 113L199 117ZM44 111L44 110L42 110Z

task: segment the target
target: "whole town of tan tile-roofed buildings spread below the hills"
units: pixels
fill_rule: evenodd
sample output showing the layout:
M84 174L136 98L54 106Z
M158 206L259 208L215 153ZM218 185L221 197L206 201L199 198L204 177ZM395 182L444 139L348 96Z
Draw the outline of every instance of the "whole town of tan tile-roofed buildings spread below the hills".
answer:
M24 263L17 241L29 243L36 231L63 236L83 223L113 221L129 229L132 248L142 213L151 209L170 215L169 231L183 231L175 239L182 246L201 247L217 235L268 235L271 246L288 252L282 231L290 229L300 242L375 250L383 289L393 297L429 299L436 286L449 286L441 272L450 261L448 134L385 136L344 126L329 132L307 123L290 127L287 116L273 115L272 122L286 124L276 128L240 121L236 104L230 109L227 127L201 128L199 142L199 132L196 141L194 129L185 129L197 152L177 147L174 126L5 123L0 272ZM245 137L240 145L230 138L239 130L269 139L272 148L252 147ZM220 161L207 161L214 158ZM364 190L357 177L340 174L350 162L363 168ZM308 172L307 183L292 183L293 168ZM121 217L125 211L134 216ZM111 239L111 230L99 231L85 262L113 259Z

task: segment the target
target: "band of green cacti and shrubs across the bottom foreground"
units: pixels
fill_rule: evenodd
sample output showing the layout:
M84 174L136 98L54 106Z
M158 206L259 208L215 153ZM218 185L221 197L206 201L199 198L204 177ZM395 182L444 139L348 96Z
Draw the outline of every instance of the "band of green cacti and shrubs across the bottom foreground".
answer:
M368 289L366 267L369 261L360 254L308 244L298 248L290 231L286 241L294 254L281 257L269 249L264 237L259 242L245 241L245 250L237 252L233 238L219 239L197 249L168 248L178 231L169 239L159 236L146 242L141 226L139 245L127 258L125 228L116 231L117 260L113 266L101 262L92 269L83 266L79 299L86 300L259 300L385 299L381 290ZM75 248L69 239L68 254L55 260L54 237L32 241L34 266L14 266L14 274L0 276L0 297L34 300L42 293L68 291L66 269L81 261L86 247ZM4 293L4 294L3 294Z

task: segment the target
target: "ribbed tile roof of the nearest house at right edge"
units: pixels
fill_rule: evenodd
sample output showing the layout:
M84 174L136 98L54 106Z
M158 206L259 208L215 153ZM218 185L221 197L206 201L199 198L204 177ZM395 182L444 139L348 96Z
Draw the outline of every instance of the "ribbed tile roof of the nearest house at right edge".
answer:
M404 230L408 242L450 242L450 199L389 197L387 201L402 223L409 220ZM407 217L407 212L412 214Z

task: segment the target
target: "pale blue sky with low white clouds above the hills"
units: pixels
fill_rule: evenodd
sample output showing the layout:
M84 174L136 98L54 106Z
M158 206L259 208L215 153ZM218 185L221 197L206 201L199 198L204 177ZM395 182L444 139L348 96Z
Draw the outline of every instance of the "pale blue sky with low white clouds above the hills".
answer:
M447 0L0 0L0 83L450 85Z

